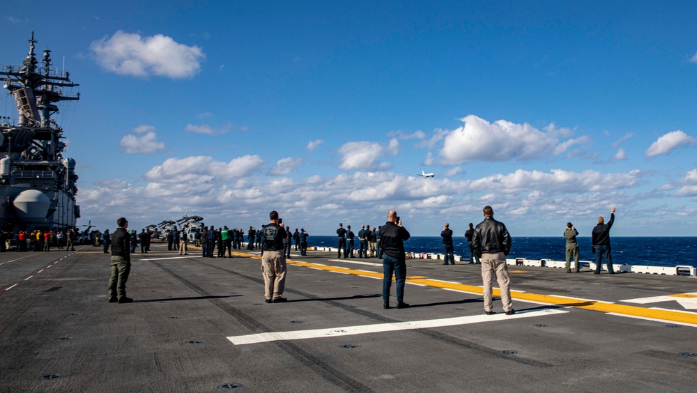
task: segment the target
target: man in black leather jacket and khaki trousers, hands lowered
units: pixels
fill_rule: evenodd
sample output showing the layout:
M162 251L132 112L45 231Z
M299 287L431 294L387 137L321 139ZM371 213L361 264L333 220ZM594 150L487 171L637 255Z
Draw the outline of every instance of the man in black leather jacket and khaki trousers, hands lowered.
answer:
M493 314L491 299L491 278L496 275L496 281L501 292L501 302L506 315L515 314L511 302L509 288L508 266L506 256L511 252L511 236L503 222L493 219L493 208L484 208L484 221L477 224L472 236L472 247L482 262L482 281L484 282L484 312Z

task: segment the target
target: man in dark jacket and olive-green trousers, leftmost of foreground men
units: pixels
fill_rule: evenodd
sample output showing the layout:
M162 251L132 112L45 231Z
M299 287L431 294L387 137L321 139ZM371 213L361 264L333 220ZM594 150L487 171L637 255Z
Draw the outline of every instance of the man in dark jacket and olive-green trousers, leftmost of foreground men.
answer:
M130 234L126 231L128 220L116 220L118 228L112 235L112 277L109 278L109 303L130 303L126 297L126 281L130 272Z

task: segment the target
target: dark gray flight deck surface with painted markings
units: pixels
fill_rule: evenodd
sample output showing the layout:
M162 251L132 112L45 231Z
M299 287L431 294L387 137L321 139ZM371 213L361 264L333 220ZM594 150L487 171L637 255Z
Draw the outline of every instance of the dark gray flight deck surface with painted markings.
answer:
M109 255L98 247L0 254L0 391L694 392L697 384L694 295L636 301L695 293L695 278L511 266L511 288L525 291L514 293L519 313L505 316L497 298L497 314L484 316L480 294L431 285L481 286L478 265L408 260L408 277L421 283L406 285L413 307L385 310L381 279L358 271L381 273L378 259L293 252L290 261L325 267L289 263L289 302L266 304L258 252L204 259L166 248L132 256L135 302L124 305L107 302ZM394 295L393 284L392 305ZM572 299L550 305L545 295ZM636 318L643 311L649 319ZM457 317L470 318L389 325ZM374 325L385 331L364 331ZM327 334L227 338L315 329ZM356 334L332 335L341 330Z

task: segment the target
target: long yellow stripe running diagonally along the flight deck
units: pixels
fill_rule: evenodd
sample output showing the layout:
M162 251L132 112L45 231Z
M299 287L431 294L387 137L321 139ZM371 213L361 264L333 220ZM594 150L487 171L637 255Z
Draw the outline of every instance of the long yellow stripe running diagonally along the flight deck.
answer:
M251 258L261 259L261 256L252 254L242 254L236 253L240 256L249 256ZM353 270L350 268L343 268L341 266L330 266L322 265L319 263L309 263L300 261L291 261L286 259L286 263L289 265L304 266L305 268L314 268L319 270L327 270L330 272L343 272L351 275L357 276L368 276L374 278L382 278L382 272L367 272L365 270ZM482 294L483 288L481 286L474 286L468 284L457 284L453 282L443 282L434 279L422 278L423 276L411 276L406 277L406 282L411 282L412 284L422 284L426 286L432 286L434 288L451 289L454 291L461 291L473 294ZM500 296L500 291L493 288L493 295ZM686 295L673 295L675 297L689 297ZM521 291L511 290L511 298L516 300L528 300L530 302L546 303L549 305L556 305L559 307L574 307L576 309L585 309L590 311L599 311L604 313L620 314L625 316L632 316L637 318L648 318L659 321L683 323L687 325L694 325L697 327L697 314L685 313L684 311L671 311L666 309L648 309L645 307L630 306L630 305L616 305L614 303L599 302L593 300L583 300L575 298L562 298L555 295L540 295L539 293L528 293Z

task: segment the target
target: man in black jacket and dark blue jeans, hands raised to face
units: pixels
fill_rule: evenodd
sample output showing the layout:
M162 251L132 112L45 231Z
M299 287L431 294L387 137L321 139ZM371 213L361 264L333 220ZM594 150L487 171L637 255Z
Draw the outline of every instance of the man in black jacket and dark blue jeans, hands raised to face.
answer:
M380 240L383 250L383 308L390 308L390 286L392 272L397 283L397 308L409 307L404 302L404 283L406 282L406 263L404 261L404 240L408 240L409 232L401 226L401 219L395 210L388 213L388 222L380 227Z

